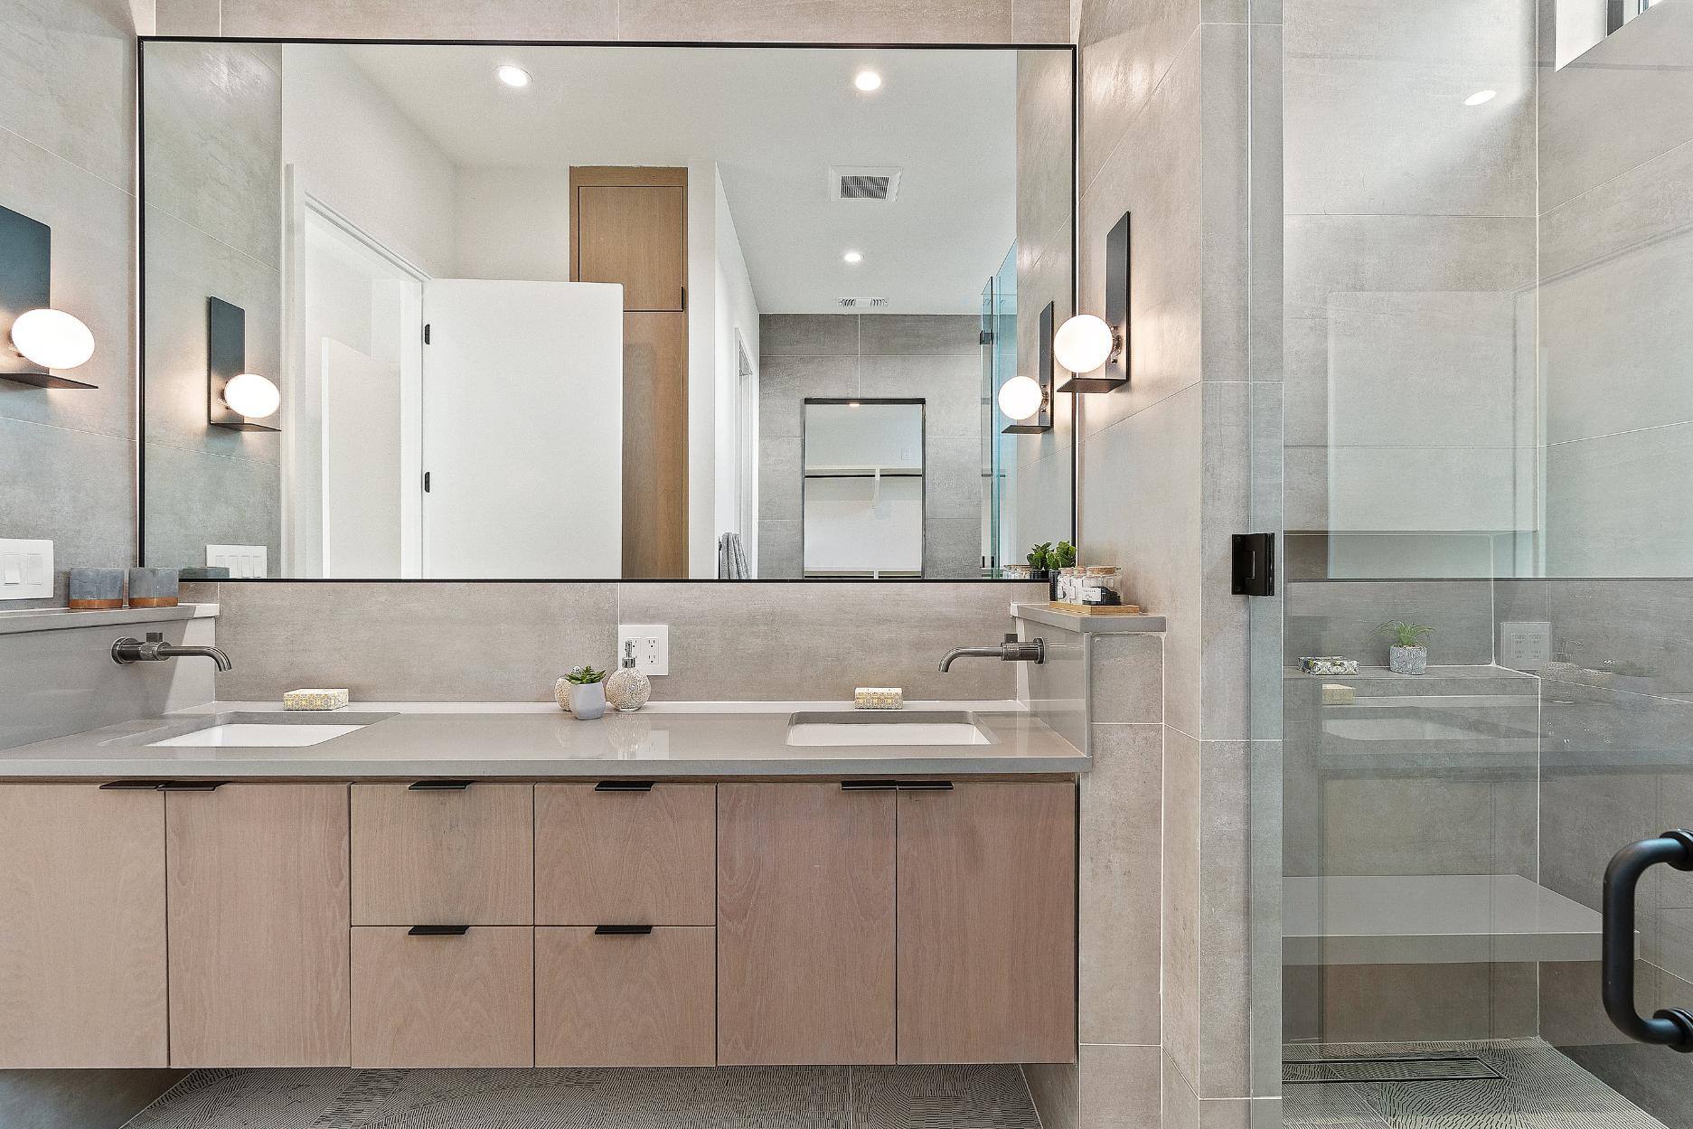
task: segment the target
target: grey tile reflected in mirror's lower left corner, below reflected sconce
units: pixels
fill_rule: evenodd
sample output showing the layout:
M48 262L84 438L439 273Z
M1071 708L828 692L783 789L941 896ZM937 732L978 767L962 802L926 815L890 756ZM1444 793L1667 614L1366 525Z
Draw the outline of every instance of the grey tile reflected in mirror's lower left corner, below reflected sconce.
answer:
M142 555L149 565L205 565L207 545L264 545L271 576L281 576L281 472L274 462L164 443L142 443Z

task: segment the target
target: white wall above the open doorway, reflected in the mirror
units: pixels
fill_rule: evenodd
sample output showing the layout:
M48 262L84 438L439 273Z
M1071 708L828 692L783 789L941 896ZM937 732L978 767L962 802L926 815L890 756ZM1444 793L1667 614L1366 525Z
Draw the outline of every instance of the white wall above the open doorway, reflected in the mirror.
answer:
M454 274L457 169L339 47L283 47L283 162L430 274Z

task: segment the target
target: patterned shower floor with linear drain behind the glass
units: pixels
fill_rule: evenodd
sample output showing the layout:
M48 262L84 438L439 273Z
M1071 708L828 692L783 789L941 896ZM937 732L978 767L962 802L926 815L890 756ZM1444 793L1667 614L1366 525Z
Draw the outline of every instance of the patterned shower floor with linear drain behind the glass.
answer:
M1295 1044L1283 1051L1283 1077L1310 1077L1315 1061L1385 1055L1473 1056L1498 1077L1283 1085L1288 1129L1664 1129L1541 1039ZM1393 1071L1371 1070L1370 1077Z

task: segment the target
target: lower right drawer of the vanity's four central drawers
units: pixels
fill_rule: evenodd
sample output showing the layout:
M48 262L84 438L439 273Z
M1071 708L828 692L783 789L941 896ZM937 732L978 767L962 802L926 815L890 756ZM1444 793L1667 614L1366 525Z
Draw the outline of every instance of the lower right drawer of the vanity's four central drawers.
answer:
M535 929L537 1066L711 1066L716 929Z

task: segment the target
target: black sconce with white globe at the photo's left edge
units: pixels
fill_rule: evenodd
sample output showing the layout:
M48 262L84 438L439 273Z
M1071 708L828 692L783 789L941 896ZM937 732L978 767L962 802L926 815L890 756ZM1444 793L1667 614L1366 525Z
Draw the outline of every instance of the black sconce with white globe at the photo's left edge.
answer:
M36 388L95 388L52 369L95 354L95 335L52 308L52 229L0 208L0 377Z

